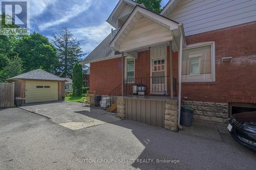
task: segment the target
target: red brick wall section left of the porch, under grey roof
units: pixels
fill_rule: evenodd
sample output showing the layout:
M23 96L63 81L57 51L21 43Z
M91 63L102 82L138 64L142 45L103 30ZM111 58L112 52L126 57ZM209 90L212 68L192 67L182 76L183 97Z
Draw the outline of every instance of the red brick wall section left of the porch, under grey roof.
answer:
M121 58L93 62L90 64L90 90L109 95L121 84Z

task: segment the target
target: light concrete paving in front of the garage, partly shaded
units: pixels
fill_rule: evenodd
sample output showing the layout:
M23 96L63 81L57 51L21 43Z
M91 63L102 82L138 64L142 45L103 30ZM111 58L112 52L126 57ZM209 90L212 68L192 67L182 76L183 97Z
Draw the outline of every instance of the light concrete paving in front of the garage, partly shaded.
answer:
M120 120L114 113L100 108L82 107L76 102L42 102L20 107L32 113L48 117L52 122L71 130L88 128Z

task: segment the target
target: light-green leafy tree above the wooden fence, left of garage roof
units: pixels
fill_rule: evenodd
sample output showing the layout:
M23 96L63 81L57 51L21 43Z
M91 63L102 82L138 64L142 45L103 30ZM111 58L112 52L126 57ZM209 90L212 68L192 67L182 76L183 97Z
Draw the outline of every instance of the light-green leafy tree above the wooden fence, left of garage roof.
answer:
M13 57L13 59L8 59L8 63L4 67L3 71L5 79L22 74L24 71L22 59L20 59L18 56Z

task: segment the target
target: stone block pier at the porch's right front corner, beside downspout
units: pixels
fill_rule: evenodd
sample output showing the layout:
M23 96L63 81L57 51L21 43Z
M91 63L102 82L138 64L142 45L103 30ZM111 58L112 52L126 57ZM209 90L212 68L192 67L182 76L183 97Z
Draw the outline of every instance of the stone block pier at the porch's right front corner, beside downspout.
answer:
M178 131L178 100L165 101L164 128Z

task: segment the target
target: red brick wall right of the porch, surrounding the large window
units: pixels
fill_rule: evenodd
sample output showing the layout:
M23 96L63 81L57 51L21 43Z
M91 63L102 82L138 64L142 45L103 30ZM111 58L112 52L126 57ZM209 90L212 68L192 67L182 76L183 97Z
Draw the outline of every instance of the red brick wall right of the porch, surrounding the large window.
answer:
M216 82L182 84L182 99L256 103L256 22L186 37L187 44L215 41ZM233 57L233 61L222 61Z

